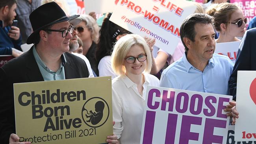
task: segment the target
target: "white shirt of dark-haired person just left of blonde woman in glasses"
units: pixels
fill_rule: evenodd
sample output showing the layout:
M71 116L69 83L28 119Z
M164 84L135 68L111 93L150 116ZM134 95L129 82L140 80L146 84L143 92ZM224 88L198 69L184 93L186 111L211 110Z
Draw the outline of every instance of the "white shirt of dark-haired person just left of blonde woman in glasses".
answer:
M117 77L117 74L111 67L111 56L107 55L100 60L98 65L99 76L111 76L111 78Z

